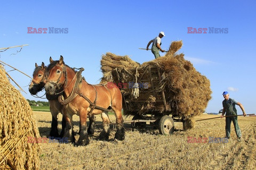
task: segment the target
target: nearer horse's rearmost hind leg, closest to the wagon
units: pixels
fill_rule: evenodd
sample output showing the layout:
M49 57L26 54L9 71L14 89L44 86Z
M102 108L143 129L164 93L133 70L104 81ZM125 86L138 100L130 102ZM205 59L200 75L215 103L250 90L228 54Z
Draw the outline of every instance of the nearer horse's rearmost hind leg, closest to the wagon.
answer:
M123 117L122 117L122 108L121 109L117 109L115 107L112 107L115 116L116 116L116 134L115 134L115 139L117 140L124 140L124 134L125 134L125 129L124 129L124 125L123 125Z

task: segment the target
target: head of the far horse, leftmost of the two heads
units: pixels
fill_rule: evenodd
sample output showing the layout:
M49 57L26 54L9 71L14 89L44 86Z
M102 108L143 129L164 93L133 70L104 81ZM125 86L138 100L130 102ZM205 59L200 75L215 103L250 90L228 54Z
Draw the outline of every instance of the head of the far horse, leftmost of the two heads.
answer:
M46 83L46 66L44 66L44 62L42 62L41 66L38 66L37 64L35 64L35 66L33 80L29 84L29 92L31 95L36 95L38 91L42 91Z

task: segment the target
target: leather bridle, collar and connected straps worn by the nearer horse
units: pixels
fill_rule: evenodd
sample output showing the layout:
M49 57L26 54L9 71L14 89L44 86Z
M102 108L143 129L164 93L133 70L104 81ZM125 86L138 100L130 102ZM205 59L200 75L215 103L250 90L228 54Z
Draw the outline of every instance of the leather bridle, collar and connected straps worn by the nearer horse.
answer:
M91 117L92 116L92 111L93 109L100 109L102 111L107 111L107 112L111 112L111 109L106 109L106 108L103 108L103 107L100 107L100 106L97 106L96 103L97 103L97 98L98 98L98 91L97 89L92 85L92 84L89 84L90 86L92 86L95 90L95 99L94 101L92 102L89 98L87 98L82 92L81 92L81 87L82 87L82 80L84 79L82 77L82 72L84 71L84 68L81 67L80 69L78 69L79 71L76 72L76 75L74 76L73 80L71 82L74 81L74 79L76 78L76 82L75 82L75 85L71 91L71 94L68 96L68 98L64 98L63 94L59 95L58 97L58 101L61 105L67 105L68 103L70 103L70 101L72 101L74 98L77 97L77 95L83 97L85 100L87 100L90 104L89 107L91 107L90 109L90 112L88 113L88 115ZM59 83L60 81L60 78L61 78L61 75L64 74L64 77L65 77L65 80L63 80L62 82ZM49 81L46 81L46 82L49 82ZM60 77L58 78L57 82L50 82L51 84L53 84L54 86L56 86L58 89L61 88L61 86L65 83L65 87L63 88L63 90L61 92L58 92L58 94L62 93L64 91L65 88L67 88L71 82L68 84L67 86L67 72L66 72L66 67L64 65L64 68L63 68L63 71L61 72L60 74ZM101 84L100 86L104 86L108 91L109 91L109 94L110 94L110 97L111 97L111 105L112 105L112 96L111 96L111 92L110 90L103 84ZM55 92L54 92L55 93Z

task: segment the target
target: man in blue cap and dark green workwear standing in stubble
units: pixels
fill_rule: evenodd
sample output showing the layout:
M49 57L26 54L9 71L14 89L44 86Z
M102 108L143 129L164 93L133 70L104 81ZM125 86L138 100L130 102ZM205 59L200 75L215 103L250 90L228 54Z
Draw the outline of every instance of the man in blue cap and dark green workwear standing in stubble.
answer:
M234 99L229 98L229 94L228 94L227 91L224 91L222 95L225 99L222 101L223 111L222 111L222 115L220 116L221 118L223 118L223 116L225 115L225 112L226 112L226 116L237 115L235 105L238 105L241 108L241 110L243 112L243 115L246 116L246 113L244 111L244 107L241 103L239 103L238 101L236 101ZM231 121L233 121L233 124L234 124L234 127L235 127L236 136L238 138L237 141L241 141L242 133L241 133L241 130L240 130L240 128L238 126L238 123L237 123L237 116L226 117L226 138L228 138L228 139L230 138Z

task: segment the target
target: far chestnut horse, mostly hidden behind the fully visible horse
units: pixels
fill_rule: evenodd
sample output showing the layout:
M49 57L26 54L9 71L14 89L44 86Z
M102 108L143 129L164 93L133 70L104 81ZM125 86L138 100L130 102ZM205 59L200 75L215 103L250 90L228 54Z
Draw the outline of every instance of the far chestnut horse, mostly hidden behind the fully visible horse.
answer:
M29 85L29 92L31 95L36 95L37 92L42 91L44 89L45 83L46 83L46 77L45 77L45 70L46 66L44 65L44 62L42 62L41 66L38 66L35 64L35 70L33 72L33 80L31 81ZM64 132L65 132L65 126L66 126L66 119L64 116L62 116L62 130L59 135L58 132L58 121L57 121L57 115L59 113L63 113L63 105L61 105L58 101L58 96L54 95L47 95L46 98L49 100L49 105L50 105L50 112L52 114L52 123L51 123L51 131L50 131L50 137L63 137ZM88 129L89 134L94 133L94 122L95 117L90 118L90 125Z

